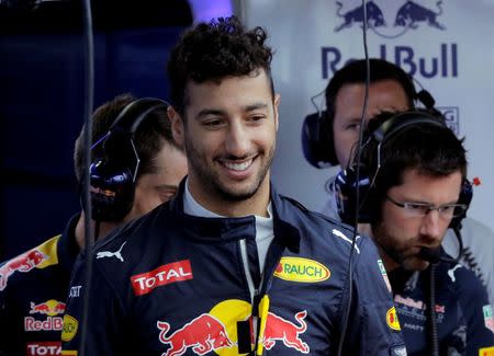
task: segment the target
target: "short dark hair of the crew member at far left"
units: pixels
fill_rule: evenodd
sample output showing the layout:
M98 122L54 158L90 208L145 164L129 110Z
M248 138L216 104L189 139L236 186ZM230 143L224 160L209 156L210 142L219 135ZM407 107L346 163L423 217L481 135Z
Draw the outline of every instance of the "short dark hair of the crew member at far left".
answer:
M119 116L121 111L134 102L136 97L132 94L122 94L113 100L99 106L92 114L92 142L102 138L112 126L115 118ZM85 139L83 139L85 127L79 134L79 137L75 143L74 151L74 165L76 179L81 182L81 176L85 170ZM179 150L183 150L173 140L171 134L171 125L165 108L156 108L147 114L147 117L139 124L137 130L133 138L134 145L137 150L137 154L141 159L139 170L137 172L136 180L141 175L146 173L156 172L156 165L153 163L154 158L161 150L164 145L169 143ZM126 143L128 145L128 143ZM119 142L115 143L119 146ZM133 157L128 158L125 156L134 154L131 150L122 147L112 147L111 149L105 148L103 145L98 145L91 150L91 159L96 158L106 158L109 160L117 160L119 162L128 162Z

